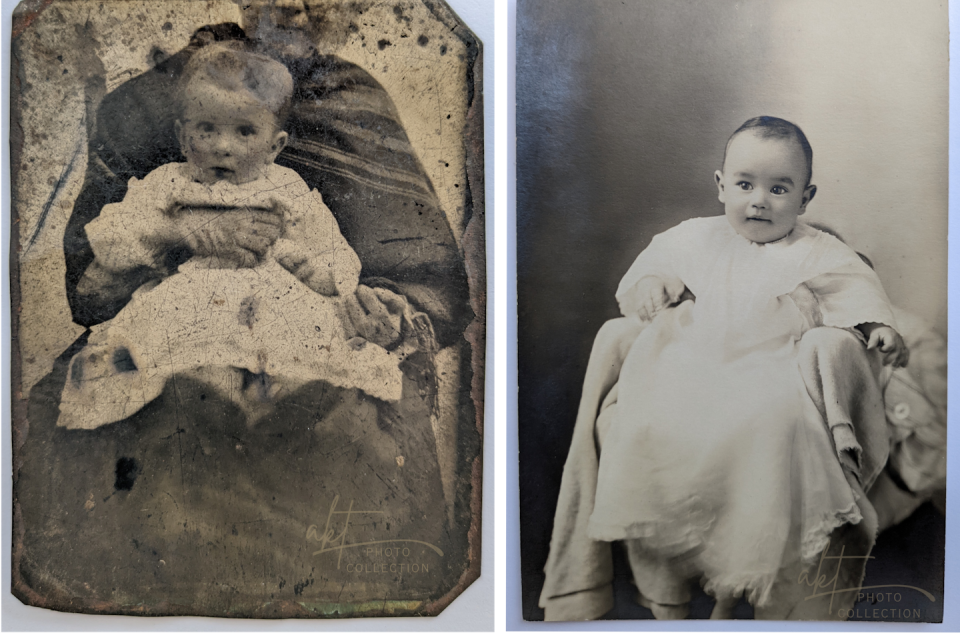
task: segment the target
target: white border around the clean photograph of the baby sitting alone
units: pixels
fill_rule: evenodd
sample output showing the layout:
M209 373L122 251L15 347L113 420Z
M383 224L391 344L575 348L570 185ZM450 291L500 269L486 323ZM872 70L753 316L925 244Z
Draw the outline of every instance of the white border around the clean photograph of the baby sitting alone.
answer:
M599 1L599 0L586 0ZM838 2L844 0L837 0ZM576 631L701 631L705 628L710 631L817 631L817 633L860 633L861 631L883 631L883 633L899 633L901 631L918 631L922 625L911 622L769 622L736 620L726 622L712 622L705 624L704 620L685 620L682 622L657 622L653 620L607 620L603 622L525 622L521 608L520 589L520 519L518 494L518 462L519 447L517 444L517 312L516 312L516 59L517 59L517 3L509 0L507 3L507 139L506 146L507 174L507 285L506 305L506 380L509 385L506 394L506 455L507 455L507 521L506 521L506 550L505 550L505 619L504 629L507 631L556 631L576 627ZM904 10L909 10L909 3L905 2ZM950 0L950 31L960 33L960 0ZM960 38L950 41L950 216L960 213L960 175L958 175L958 161L960 161ZM950 397L948 401L948 422L960 417L960 344L952 337L960 336L960 298L957 296L960 282L952 283L960 278L960 230L954 222L950 222L950 260L949 277L950 301L948 307L950 347L948 358L950 372ZM955 325L957 324L957 325ZM948 423L948 427L951 424ZM943 609L943 625L938 631L960 630L960 599L958 599L957 579L960 576L960 560L957 548L960 546L960 524L956 521L960 508L960 481L957 468L960 461L960 427L948 432L947 454L950 456L947 467L947 533L946 533L946 570L944 578L945 599Z

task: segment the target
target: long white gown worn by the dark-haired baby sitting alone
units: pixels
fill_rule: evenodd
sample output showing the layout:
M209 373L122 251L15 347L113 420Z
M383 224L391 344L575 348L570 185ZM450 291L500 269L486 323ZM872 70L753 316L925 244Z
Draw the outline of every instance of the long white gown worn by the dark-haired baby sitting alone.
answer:
M763 604L787 557L815 559L861 518L796 344L820 325L896 327L888 299L852 249L804 224L761 245L723 216L689 220L654 238L618 298L647 275L696 301L662 311L630 349L588 533L640 539L709 593Z

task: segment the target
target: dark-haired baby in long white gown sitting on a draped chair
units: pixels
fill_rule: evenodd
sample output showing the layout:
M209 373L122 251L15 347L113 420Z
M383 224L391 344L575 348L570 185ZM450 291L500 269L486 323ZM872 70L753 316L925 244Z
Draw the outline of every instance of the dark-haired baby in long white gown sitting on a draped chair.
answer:
M861 520L844 474L857 472L860 447L852 425L828 433L797 343L827 326L885 364L908 354L874 272L798 222L816 194L811 174L796 125L744 123L714 175L725 217L656 236L620 283L624 318L598 335L584 401L613 382L619 395L612 420L597 421L587 535L627 541L658 618L683 617L694 578L717 598L714 617L741 595L766 605L788 563L809 564L835 528Z

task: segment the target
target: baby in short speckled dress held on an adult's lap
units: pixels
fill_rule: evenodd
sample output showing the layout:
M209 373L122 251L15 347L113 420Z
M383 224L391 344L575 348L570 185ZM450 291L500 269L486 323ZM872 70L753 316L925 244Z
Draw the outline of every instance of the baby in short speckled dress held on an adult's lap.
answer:
M86 227L95 260L81 292L109 292L123 276L152 281L74 358L61 426L123 419L177 372L228 397L259 376L254 400L315 379L399 397L395 358L345 345L342 298L357 289L359 258L319 192L274 164L292 93L282 64L240 42L191 57L175 124L186 162L131 179ZM189 260L156 280L178 250Z

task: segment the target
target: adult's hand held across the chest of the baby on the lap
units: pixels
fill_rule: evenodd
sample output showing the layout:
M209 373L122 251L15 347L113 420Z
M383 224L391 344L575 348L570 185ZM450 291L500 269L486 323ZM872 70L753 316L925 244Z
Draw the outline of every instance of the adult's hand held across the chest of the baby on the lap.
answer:
M180 211L183 239L200 257L214 257L225 268L253 268L280 237L283 218L269 209Z

